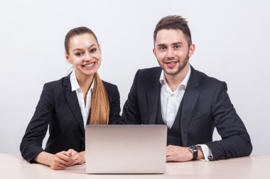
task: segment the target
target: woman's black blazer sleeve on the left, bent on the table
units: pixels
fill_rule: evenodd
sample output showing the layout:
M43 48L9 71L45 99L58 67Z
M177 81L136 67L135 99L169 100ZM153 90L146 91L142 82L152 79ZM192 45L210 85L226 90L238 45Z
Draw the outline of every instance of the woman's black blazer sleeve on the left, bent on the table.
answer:
M21 156L26 161L33 163L33 159L43 151L42 142L48 129L50 118L55 108L53 92L49 83L43 86L41 98L36 106L36 111L26 128L26 133L21 141Z

